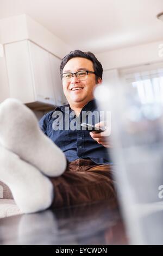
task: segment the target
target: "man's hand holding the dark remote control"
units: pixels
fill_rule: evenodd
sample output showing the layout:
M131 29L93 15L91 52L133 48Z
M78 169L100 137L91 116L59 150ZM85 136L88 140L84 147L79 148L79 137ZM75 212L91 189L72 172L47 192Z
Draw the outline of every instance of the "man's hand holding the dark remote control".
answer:
M97 127L102 127L105 125L104 121L101 121L97 124L95 124L95 126ZM112 148L112 145L109 142L109 136L110 136L110 131L109 129L105 126L105 131L104 132L90 132L90 135L93 139L95 139L95 141L98 142L98 144L102 144L105 148Z

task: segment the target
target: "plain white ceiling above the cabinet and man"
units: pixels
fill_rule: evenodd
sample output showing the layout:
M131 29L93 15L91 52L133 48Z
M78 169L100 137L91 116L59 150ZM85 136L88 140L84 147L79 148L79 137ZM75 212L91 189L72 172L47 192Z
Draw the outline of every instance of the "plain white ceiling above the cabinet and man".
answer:
M163 39L163 0L0 0L0 19L27 14L74 49L105 52Z

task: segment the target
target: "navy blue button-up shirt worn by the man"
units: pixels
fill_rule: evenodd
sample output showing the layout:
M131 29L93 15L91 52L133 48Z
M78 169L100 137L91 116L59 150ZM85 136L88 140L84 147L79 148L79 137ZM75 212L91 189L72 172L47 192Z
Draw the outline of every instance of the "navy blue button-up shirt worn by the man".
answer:
M56 107L39 121L40 128L64 152L69 162L76 159L91 159L95 163L110 163L108 149L98 144L90 136L89 130L83 130L80 123L95 125L101 121L96 101L89 101L76 117L70 105Z

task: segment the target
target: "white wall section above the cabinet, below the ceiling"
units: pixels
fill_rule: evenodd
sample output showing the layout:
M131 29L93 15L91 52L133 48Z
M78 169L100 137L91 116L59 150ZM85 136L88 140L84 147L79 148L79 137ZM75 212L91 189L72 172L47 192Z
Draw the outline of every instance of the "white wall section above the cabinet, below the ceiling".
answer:
M60 59L71 51L71 46L26 14L0 20L0 31L2 44L29 39Z

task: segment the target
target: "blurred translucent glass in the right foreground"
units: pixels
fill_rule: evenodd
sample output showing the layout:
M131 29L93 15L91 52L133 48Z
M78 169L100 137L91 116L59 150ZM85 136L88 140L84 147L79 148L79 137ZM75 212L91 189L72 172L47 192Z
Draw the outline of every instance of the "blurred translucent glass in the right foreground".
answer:
M158 79L117 79L95 91L99 108L111 111L110 139L114 149L109 154L116 165L118 197L131 244L163 244L163 221L154 217L163 210L159 196L163 188L161 75ZM151 223L151 214L155 224Z

